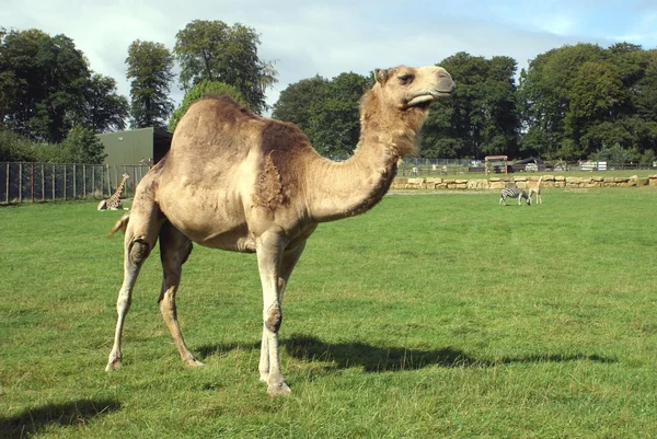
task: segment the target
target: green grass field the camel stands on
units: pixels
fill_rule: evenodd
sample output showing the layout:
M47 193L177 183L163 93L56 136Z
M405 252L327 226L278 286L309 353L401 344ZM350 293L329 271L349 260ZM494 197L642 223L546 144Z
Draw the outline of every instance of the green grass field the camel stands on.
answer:
M657 188L497 201L389 195L321 224L284 302L287 398L257 379L254 255L195 246L187 369L153 253L108 374L123 212L0 208L0 437L655 437Z

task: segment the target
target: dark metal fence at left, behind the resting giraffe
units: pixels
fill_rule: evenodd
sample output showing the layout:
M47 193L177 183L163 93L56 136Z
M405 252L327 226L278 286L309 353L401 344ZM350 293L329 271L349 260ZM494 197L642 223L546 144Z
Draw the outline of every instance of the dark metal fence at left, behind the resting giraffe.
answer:
M0 162L0 203L106 198L124 173L122 197L128 198L147 172L147 165Z

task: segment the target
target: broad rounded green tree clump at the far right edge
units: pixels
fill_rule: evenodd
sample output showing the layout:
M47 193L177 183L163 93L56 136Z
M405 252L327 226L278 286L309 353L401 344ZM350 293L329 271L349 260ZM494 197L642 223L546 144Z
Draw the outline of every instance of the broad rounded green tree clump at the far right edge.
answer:
M653 157L655 60L652 51L627 43L578 44L539 55L520 74L521 148L576 160L618 143L634 151L631 159Z

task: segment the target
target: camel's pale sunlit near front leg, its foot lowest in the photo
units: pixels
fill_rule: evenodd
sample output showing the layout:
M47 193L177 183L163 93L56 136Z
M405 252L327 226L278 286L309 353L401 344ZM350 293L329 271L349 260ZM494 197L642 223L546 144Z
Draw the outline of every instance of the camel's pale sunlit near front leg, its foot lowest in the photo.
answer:
M278 347L278 330L283 322L280 308L280 288L278 284L280 261L284 243L276 233L266 233L256 242L257 268L263 285L263 358L267 355L269 373L267 376L267 391L272 396L287 395L290 388L285 382L280 371L280 354ZM261 369L261 373L263 370ZM262 376L261 376L262 377Z

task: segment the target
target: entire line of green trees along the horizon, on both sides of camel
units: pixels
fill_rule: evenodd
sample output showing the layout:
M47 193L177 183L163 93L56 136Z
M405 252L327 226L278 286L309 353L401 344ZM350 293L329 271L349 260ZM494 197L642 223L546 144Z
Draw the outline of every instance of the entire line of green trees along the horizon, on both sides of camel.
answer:
M77 161L82 154L100 162L93 134L128 124L173 130L188 105L207 94L228 94L263 114L277 72L258 57L260 45L249 26L200 20L176 34L171 50L136 41L125 60L128 100L65 35L0 28L0 160ZM176 63L186 92L178 108L170 97ZM458 53L437 65L452 74L457 91L431 104L419 136L424 158L656 158L655 49L566 45L520 72L507 56ZM372 83L371 76L354 72L302 79L281 91L272 116L297 124L321 154L349 155L359 138L359 99Z

